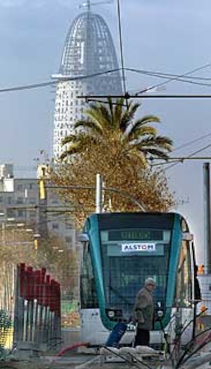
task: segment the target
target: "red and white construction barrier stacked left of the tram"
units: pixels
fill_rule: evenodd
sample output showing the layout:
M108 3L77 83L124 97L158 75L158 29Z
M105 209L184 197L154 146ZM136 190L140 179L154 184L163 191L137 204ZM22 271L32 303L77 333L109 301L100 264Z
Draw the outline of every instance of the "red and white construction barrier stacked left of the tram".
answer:
M14 345L43 350L61 339L60 284L44 268L17 267ZM28 343L30 345L26 345Z

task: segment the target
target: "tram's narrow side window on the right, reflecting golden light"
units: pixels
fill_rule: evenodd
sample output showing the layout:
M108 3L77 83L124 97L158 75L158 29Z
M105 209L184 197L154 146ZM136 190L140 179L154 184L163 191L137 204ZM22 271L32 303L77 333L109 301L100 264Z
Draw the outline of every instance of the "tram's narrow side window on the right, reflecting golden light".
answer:
M192 276L189 243L182 241L177 270L176 303L180 307L191 307Z

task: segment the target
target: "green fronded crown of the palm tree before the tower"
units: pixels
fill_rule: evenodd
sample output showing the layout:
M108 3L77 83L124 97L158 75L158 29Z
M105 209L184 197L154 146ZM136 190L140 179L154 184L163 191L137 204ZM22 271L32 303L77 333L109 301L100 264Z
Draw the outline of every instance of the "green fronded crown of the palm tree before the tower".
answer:
M172 151L173 142L166 136L159 136L155 127L150 123L159 123L160 119L147 115L135 120L139 103L129 102L127 107L124 98L115 102L108 98L108 105L103 102L93 103L85 111L86 119L74 124L75 133L63 140L66 150L61 160L73 154L82 153L90 145L101 145L107 142L108 149L112 145L121 145L126 156L139 156L147 163L151 157L168 159Z

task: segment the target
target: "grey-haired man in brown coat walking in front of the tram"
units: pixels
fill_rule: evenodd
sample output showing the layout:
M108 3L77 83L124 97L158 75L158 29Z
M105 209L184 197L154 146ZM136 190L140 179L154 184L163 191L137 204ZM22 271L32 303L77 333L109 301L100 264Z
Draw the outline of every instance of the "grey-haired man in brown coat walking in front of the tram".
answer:
M149 345L149 331L153 326L154 306L152 292L156 287L153 278L147 278L144 287L140 289L136 296L133 321L137 325L135 346Z

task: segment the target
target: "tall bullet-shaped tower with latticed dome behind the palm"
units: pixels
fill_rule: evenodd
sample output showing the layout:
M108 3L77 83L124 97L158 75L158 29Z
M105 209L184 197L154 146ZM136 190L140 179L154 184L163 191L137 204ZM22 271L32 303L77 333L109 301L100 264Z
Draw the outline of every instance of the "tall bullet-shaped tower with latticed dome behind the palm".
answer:
M79 95L121 94L121 76L107 23L87 11L78 15L68 31L57 78L54 113L53 155L58 159L62 139L73 133L76 120L84 117L85 99ZM111 71L111 72L110 72Z

